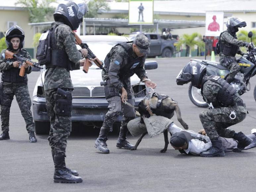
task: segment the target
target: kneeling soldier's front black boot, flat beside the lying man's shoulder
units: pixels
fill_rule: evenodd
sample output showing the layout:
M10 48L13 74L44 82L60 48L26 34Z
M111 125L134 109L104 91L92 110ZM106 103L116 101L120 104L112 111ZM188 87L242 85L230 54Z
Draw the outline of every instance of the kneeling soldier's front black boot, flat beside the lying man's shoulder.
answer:
M201 157L224 157L225 152L223 150L222 141L218 139L211 140L212 147L206 152L200 153Z

